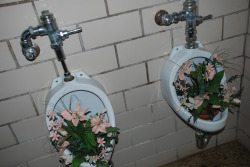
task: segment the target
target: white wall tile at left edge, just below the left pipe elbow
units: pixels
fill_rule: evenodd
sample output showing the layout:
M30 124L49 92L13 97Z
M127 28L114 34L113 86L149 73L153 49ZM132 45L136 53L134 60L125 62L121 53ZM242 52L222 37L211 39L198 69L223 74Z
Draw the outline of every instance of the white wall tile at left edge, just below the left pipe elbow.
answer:
M40 63L0 74L0 99L50 86L56 77L51 62Z

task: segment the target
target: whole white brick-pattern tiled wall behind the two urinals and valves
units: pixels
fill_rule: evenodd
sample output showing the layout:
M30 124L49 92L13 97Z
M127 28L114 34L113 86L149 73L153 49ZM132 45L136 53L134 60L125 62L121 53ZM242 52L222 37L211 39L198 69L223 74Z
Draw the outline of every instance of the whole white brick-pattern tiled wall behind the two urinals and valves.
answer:
M54 13L62 29L83 28L65 40L66 62L70 71L84 70L99 81L109 95L121 129L116 167L156 167L200 151L194 130L176 117L159 88L171 48L185 43L185 24L159 27L154 15L160 9L180 11L183 1L0 1L0 166L61 166L49 145L44 97L63 70L48 37L35 40L41 54L34 62L24 58L19 45L22 31L38 25L43 9ZM229 114L208 148L237 138L250 149L249 0L199 0L198 5L200 15L214 15L198 27L198 39L210 51L227 48L227 75L235 73L232 69L244 72L242 83L235 84L245 86L240 114Z

